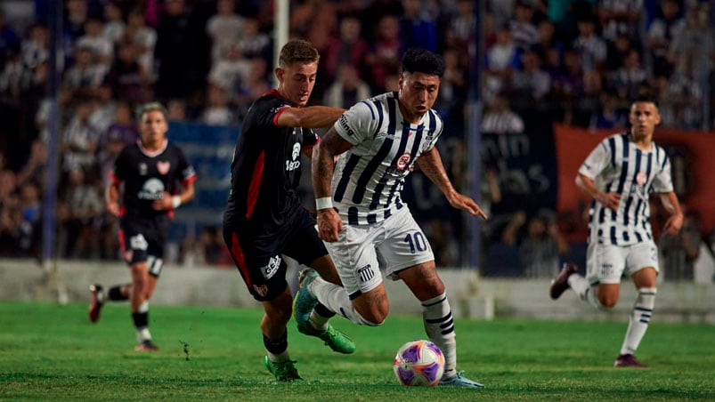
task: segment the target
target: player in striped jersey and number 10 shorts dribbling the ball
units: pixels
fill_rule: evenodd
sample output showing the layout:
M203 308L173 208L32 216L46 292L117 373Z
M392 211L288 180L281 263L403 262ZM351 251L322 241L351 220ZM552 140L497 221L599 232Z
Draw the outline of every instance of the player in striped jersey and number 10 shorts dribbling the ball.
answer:
M443 60L435 53L406 52L399 92L357 103L313 149L318 231L344 287L305 269L294 313L299 328L326 326L336 312L358 325L379 326L389 311L383 270L387 277L402 279L422 303L427 336L446 360L440 383L480 388L482 384L456 369L447 293L427 237L400 195L417 163L451 206L486 218L472 198L452 187L435 148L443 121L432 106L443 71Z

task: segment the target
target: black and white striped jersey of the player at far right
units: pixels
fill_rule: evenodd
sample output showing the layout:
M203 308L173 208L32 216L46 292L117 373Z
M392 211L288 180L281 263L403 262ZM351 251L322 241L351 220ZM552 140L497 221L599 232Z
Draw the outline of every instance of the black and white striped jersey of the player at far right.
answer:
M653 240L650 224L651 193L673 190L670 159L662 147L643 151L630 141L630 133L614 134L593 149L579 173L605 193L621 194L618 211L594 200L589 211L589 242L633 245Z

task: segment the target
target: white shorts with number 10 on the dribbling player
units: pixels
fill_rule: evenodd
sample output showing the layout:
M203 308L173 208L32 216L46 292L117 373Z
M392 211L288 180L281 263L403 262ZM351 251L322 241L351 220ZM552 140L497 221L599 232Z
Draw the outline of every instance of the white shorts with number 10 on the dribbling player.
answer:
M435 260L407 206L385 221L345 224L337 241L325 245L351 300L380 285L383 272L396 279L394 274L402 269Z

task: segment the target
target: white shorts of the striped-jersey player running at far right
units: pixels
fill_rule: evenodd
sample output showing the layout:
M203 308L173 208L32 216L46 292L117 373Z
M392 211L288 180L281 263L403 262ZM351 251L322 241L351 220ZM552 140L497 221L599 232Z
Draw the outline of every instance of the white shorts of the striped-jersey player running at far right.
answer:
M591 284L619 284L623 273L631 276L646 267L660 271L658 249L652 241L635 245L589 244L586 261L586 279Z

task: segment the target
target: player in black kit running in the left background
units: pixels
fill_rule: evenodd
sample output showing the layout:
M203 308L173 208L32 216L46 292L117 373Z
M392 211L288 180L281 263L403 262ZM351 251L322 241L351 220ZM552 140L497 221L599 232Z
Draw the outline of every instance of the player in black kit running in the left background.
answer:
M106 299L129 300L136 350L150 351L158 347L151 342L149 332L149 299L161 273L169 220L176 208L193 198L196 173L182 149L168 142L167 110L162 105L143 105L139 125L141 139L119 154L105 193L107 209L120 217L119 244L132 283L110 287ZM89 320L94 323L100 318L105 296L101 285L92 285L90 290Z

